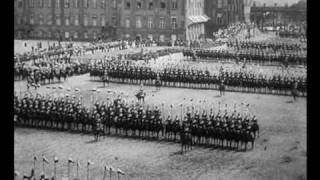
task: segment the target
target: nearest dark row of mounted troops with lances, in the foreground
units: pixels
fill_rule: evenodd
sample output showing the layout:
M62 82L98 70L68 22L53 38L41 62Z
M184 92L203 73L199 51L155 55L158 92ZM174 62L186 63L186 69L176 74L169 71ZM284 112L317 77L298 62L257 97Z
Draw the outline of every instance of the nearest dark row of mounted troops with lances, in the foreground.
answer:
M163 105L162 105L163 106ZM171 105L171 108L173 106ZM181 106L182 107L182 106ZM172 111L172 109L171 109ZM191 133L195 144L240 148L252 142L259 132L257 118L234 109L214 112L187 107L183 118L171 113L165 118L158 106L125 102L121 97L95 102L89 109L81 98L53 98L25 94L14 97L15 124L27 127L90 133L156 138L178 141L181 132ZM181 114L182 115L182 114ZM224 143L226 142L226 143Z

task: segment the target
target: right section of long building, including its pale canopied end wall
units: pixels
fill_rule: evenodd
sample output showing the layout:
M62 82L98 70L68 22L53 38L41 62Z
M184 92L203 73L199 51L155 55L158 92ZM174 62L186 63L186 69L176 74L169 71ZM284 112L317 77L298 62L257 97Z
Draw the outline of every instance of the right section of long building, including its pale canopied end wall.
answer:
M204 0L123 0L122 38L159 41L196 40L204 34Z

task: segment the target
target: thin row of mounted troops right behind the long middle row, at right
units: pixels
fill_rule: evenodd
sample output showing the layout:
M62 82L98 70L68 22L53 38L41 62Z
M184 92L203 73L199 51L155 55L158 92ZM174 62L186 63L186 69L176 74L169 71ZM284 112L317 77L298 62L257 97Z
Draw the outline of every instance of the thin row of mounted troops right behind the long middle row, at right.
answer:
M219 60L244 60L252 61L255 63L290 63L290 64L298 64L305 65L307 63L307 59L305 56L296 56L292 54L264 54L263 52L256 51L255 53L249 51L239 51L239 52L229 52L226 50L191 50L185 49L183 51L183 55L187 57L199 57L200 59L219 59Z

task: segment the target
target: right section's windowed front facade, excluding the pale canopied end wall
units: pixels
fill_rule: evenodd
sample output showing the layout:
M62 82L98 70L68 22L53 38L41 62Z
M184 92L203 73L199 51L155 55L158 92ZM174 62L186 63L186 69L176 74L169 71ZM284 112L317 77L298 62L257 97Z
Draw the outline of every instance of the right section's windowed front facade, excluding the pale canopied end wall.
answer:
M121 38L184 39L183 0L122 0L120 12Z

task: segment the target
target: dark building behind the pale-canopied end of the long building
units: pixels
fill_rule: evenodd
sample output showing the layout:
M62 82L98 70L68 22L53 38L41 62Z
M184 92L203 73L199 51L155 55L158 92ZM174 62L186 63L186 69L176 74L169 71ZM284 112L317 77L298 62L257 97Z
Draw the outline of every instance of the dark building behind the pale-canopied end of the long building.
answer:
M213 32L231 23L243 22L244 6L244 0L206 0L205 13L210 18L205 24L206 36L212 37Z

